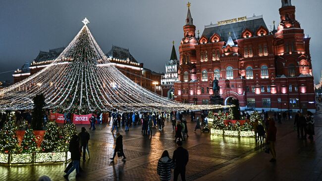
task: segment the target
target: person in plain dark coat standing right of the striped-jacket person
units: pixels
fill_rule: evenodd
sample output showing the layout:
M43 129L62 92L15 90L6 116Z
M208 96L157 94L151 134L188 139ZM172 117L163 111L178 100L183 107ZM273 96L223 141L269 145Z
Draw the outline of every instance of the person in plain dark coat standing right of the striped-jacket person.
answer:
M182 142L177 141L177 149L173 151L172 160L174 163L174 177L173 181L178 180L180 174L181 181L186 181L186 166L189 161L189 153L182 147Z

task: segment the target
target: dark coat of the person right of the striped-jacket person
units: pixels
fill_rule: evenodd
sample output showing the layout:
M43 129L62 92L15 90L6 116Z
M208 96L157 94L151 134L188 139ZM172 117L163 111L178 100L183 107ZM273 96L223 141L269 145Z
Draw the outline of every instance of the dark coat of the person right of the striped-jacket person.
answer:
M189 161L189 153L182 146L179 146L173 151L172 160L174 163L174 170L182 171Z

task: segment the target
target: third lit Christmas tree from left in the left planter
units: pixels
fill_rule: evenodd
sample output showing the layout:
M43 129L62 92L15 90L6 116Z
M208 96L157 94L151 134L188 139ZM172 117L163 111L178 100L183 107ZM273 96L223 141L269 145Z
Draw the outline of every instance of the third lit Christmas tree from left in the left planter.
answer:
M54 121L47 123L47 130L41 143L42 151L53 152L57 150L59 142L58 125Z

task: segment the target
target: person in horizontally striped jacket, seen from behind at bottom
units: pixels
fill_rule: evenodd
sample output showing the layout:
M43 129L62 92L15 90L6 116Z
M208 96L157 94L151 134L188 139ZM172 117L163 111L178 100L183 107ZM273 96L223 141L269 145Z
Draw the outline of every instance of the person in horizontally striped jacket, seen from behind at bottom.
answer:
M158 161L157 173L160 176L160 181L170 181L171 169L174 169L172 159L169 157L167 150L164 150L161 158Z

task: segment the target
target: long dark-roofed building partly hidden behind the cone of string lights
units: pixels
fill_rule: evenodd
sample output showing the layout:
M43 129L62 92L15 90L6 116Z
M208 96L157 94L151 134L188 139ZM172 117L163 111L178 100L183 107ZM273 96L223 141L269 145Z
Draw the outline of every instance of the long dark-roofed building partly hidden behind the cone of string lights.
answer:
M32 63L27 61L20 69L17 69L14 72L13 82L19 82L48 66L60 55L60 53L62 53L64 49L65 47L61 47L49 50L49 52L40 51ZM161 95L161 87L155 87L153 82L160 83L161 76L163 74L143 67L143 63L139 63L137 60L135 60L135 58L130 54L129 49L113 45L106 56L111 59L110 61L116 66L117 69L119 69L131 80L142 87Z

